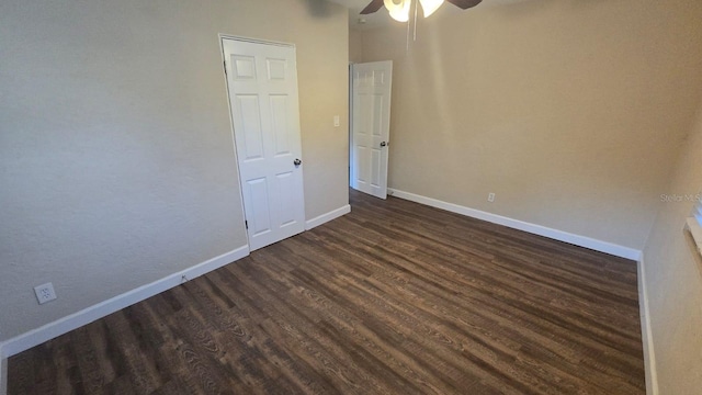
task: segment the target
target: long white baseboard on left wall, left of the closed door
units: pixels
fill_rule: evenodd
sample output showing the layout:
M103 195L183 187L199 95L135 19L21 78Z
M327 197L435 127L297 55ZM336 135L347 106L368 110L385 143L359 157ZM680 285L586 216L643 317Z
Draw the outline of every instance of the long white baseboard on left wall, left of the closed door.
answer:
M178 286L182 283L183 275L188 280L193 280L213 270L219 269L228 263L239 260L248 255L248 245L239 247L235 250L208 259L202 263L182 270L178 273L173 273L152 283L139 286L132 291L127 291L121 295L117 295L104 302L100 302L80 312L76 312L66 317L59 318L39 328L32 329L25 334L19 335L3 342L2 348L0 349L0 358L4 359L18 354L22 351L29 350L32 347L38 346L73 329L80 328L83 325L88 325L122 308L128 307L163 291ZM7 369L7 366L3 366L3 369Z

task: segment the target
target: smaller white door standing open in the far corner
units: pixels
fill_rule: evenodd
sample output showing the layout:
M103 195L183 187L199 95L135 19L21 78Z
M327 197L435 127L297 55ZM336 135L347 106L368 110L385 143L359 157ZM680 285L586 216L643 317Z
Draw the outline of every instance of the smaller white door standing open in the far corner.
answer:
M351 188L387 198L393 61L351 66Z

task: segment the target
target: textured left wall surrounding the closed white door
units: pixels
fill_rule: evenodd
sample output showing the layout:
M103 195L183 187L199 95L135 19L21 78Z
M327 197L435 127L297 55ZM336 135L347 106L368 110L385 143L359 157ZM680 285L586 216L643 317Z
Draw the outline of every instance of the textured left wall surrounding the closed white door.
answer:
M348 204L347 24L322 0L3 1L0 341L247 242L219 33L296 45L306 216Z

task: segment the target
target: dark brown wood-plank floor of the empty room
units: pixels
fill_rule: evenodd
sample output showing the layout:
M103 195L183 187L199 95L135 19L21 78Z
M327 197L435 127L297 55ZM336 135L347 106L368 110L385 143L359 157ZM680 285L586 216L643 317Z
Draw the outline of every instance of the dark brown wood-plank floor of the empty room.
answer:
M19 394L644 394L636 264L389 198L14 356Z

